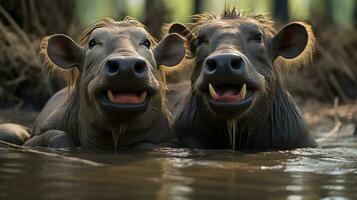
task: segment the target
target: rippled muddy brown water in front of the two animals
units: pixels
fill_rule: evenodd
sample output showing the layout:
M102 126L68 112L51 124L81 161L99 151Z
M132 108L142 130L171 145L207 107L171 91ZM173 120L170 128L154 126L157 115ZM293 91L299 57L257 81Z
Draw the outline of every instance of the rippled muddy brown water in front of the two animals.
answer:
M0 145L0 199L357 199L357 137L346 127L316 134L319 148L255 153Z

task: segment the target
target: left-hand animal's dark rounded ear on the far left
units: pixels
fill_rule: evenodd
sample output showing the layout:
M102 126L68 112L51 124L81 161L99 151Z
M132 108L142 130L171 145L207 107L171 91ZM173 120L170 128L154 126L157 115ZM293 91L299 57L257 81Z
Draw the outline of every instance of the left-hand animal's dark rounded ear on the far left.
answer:
M82 48L63 34L52 35L48 38L47 55L55 65L62 69L79 68L83 60Z

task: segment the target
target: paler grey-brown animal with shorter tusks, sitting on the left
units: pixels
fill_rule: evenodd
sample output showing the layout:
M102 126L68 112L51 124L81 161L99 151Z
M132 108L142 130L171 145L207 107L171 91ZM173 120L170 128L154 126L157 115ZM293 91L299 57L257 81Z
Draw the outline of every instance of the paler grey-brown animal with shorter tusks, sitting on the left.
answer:
M99 20L77 42L62 34L45 38L44 63L64 69L71 81L48 101L24 145L116 150L172 144L160 65L174 66L184 55L183 37L173 33L157 43L130 17ZM19 138L21 127L15 128Z

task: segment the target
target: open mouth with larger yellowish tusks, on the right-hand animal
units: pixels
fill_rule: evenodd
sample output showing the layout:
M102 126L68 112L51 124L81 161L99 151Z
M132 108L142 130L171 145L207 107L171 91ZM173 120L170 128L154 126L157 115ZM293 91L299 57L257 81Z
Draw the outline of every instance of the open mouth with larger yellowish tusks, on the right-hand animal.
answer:
M212 100L225 103L239 103L250 100L254 95L254 90L243 85L218 85L208 84L208 90Z

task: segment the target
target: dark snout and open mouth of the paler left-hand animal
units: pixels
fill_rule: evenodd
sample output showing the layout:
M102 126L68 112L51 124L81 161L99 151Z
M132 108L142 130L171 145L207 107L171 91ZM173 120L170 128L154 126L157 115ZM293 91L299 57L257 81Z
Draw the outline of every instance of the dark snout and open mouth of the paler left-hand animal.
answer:
M149 64L140 56L112 56L101 73L96 93L101 107L112 113L139 115L158 91L158 84L150 80Z

